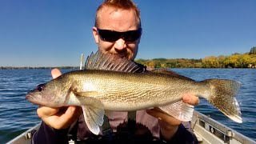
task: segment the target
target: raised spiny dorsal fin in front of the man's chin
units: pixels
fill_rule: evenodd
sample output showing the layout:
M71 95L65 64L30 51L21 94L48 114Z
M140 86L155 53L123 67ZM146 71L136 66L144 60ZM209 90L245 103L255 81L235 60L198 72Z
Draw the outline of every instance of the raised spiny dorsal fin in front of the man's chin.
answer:
M134 61L126 58L120 58L116 54L109 52L103 54L99 50L94 54L91 53L86 59L85 70L112 70L130 73L139 73L143 71Z

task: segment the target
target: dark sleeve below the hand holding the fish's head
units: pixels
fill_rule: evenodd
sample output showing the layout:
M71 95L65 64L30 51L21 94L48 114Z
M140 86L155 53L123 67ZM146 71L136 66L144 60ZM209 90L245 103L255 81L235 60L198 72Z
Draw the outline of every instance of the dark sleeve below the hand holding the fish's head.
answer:
M68 130L68 128L63 130L55 130L54 128L46 125L45 122L42 122L38 131L33 135L32 143L67 143Z

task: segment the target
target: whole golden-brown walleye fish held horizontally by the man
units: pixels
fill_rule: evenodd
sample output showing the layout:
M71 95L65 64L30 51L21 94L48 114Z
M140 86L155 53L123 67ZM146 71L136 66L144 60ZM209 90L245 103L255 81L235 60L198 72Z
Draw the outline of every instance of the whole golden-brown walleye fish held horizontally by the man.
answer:
M242 122L234 96L241 83L226 79L196 82L170 70L141 73L142 67L114 54L90 54L85 70L71 71L38 85L26 94L34 104L82 106L86 125L99 134L106 111L131 111L159 107L181 121L190 121L194 106L182 102L183 94L206 98L235 122Z

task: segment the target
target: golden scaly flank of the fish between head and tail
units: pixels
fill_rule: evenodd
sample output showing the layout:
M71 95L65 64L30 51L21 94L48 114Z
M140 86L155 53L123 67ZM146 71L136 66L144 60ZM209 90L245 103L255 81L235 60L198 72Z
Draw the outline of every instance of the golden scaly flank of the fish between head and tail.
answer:
M177 102L182 98L182 94L199 90L196 82L173 78L167 74L81 70L70 73L67 78L75 79L80 91L97 91L98 95L91 97L100 100L106 110L127 110L129 107L138 110L148 106L162 106ZM184 84L185 82L188 84ZM88 84L89 89L85 87L89 86Z

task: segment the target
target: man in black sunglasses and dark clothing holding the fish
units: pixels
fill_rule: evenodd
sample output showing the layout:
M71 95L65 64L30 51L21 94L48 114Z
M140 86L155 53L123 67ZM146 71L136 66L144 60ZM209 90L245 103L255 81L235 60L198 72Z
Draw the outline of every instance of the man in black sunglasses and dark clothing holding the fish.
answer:
M98 7L93 34L98 50L102 53L110 52L134 60L142 34L138 7L130 0L106 0ZM59 75L61 75L59 70L52 70L53 78ZM199 102L198 97L191 94L184 95L182 100L194 106ZM42 126L34 134L34 142L67 142L67 135L72 130L75 130L76 137L81 140L92 137L93 134L85 126L81 115L82 110L78 106L61 108L39 106L38 116L42 118ZM109 117L110 128L116 131L117 126L125 120L127 120L126 112L113 112ZM178 119L162 113L158 108L138 110L136 121L149 127L153 136L163 141L197 142L193 139L194 135L187 132Z

